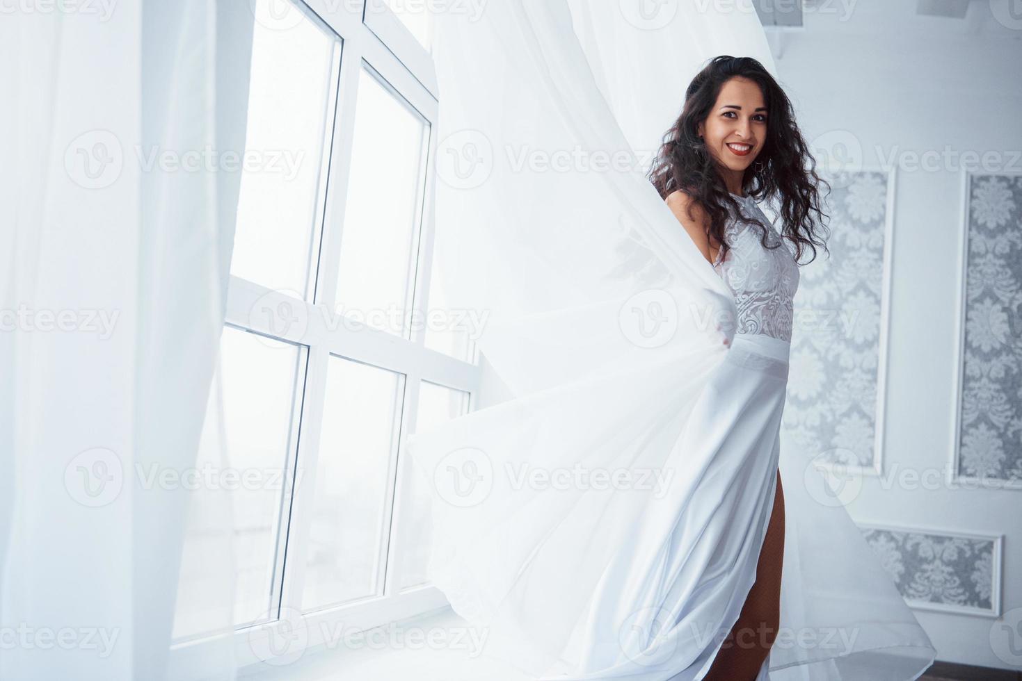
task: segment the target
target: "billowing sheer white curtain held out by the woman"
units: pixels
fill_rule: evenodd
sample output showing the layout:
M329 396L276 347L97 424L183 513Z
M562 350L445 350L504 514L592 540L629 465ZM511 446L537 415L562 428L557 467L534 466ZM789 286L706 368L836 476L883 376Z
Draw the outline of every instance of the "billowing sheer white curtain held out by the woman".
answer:
M435 266L446 304L485 320L478 345L512 398L409 438L433 490L430 577L487 627L490 654L543 678L606 678L579 673L599 645L578 624L653 507L609 481L686 455L688 416L734 334L731 295L644 177L646 156L706 60L773 60L743 2L509 0L439 13L434 35ZM825 483L802 480L807 463L782 453L782 630L853 640L835 651L789 638L772 678L916 678L929 639L846 512L814 501ZM526 482L579 465L604 484ZM665 649L692 632L667 632L644 664L657 613L621 610L599 641L620 646L615 673L695 678L695 643Z

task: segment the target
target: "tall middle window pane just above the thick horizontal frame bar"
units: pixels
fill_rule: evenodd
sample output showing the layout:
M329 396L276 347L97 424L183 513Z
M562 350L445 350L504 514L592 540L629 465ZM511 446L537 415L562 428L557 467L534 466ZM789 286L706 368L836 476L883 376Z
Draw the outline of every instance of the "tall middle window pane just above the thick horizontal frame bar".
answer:
M406 338L426 140L422 118L363 70L341 230L337 308Z

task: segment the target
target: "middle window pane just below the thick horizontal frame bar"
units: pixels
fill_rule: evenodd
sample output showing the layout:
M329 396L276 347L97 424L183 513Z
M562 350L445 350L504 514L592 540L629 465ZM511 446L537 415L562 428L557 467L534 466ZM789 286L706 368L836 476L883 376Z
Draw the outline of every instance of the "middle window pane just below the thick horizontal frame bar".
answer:
M306 567L306 611L379 592L404 376L330 357Z

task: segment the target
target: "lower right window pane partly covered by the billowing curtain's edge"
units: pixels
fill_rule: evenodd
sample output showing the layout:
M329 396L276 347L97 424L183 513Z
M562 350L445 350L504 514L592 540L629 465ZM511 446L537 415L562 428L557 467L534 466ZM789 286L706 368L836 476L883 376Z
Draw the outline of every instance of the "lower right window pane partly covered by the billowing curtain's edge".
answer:
M419 388L419 414L416 430L460 417L468 411L468 393L433 383L422 382ZM426 583L429 563L430 523L429 481L407 459L402 460L402 492L398 517L398 589Z

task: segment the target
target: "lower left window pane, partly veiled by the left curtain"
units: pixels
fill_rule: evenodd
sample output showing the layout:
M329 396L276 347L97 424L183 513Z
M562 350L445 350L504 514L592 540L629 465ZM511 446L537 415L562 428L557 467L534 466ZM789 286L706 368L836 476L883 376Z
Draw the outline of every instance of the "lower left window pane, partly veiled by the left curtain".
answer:
M223 429L226 451L222 464L201 466L194 478L182 475L182 484L205 484L196 497L208 501L224 494L234 521L234 624L275 617L270 610L277 567L284 473L296 438L301 400L299 377L305 376L305 348L225 327L221 337L219 372L223 389ZM218 402L211 395L202 440L217 447ZM187 473L187 472L185 472ZM212 490L212 491L211 491ZM194 509L193 509L194 510ZM224 513L205 508L204 513ZM214 524L216 525L216 524ZM181 571L181 593L175 637L203 633L222 626L203 613L201 594L223 589L223 576L203 569L203 555L223 551L224 538L201 530L186 538Z

